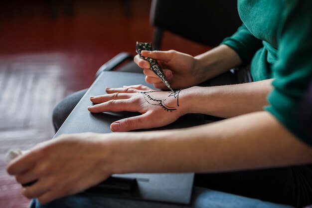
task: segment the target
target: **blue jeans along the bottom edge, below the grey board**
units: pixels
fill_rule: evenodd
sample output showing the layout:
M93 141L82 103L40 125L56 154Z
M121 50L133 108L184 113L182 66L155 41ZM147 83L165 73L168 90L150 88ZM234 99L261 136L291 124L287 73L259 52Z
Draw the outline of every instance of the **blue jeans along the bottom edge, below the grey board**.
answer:
M173 205L77 194L40 205L37 200L30 208L292 208L256 199L194 187L190 205Z

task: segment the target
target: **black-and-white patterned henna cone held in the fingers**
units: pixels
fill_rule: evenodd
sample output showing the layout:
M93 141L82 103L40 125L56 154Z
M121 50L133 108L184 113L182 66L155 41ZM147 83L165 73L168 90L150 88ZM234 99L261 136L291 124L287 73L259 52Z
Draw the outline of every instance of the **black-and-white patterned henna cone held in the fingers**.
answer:
M142 54L141 54L142 50L152 51L153 50L152 49L152 43L150 43L150 42L137 42L136 51L142 59L145 59L145 60L150 62L152 71L154 71L154 73L159 77L159 79L173 92L173 90L172 90L172 88L171 88L171 86L167 80L167 77L164 75L164 73L163 73L161 67L159 66L159 64L157 63L157 61L154 60L153 58L142 56Z

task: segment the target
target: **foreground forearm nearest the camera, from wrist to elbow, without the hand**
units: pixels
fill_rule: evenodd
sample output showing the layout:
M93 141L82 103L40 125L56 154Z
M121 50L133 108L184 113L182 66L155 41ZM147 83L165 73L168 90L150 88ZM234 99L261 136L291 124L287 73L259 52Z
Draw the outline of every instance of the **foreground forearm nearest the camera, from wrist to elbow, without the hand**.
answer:
M112 157L113 165L120 164L111 167L114 173L208 173L312 163L312 148L264 111L189 129L129 134L128 141L132 135L135 139Z

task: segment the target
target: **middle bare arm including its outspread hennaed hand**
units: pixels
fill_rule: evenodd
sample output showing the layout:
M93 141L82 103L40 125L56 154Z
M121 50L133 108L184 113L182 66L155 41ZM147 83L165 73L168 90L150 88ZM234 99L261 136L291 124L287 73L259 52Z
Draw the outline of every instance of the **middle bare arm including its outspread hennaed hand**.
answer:
M191 87L171 92L145 92L143 85L107 89L106 95L92 97L88 110L140 112L142 115L112 123L114 132L148 129L167 125L187 113L230 118L261 111L272 90L272 80L215 87ZM131 93L129 93L131 92ZM135 93L140 92L140 93ZM165 107L166 106L166 107ZM169 108L168 108L169 107ZM153 120L153 122L151 122Z

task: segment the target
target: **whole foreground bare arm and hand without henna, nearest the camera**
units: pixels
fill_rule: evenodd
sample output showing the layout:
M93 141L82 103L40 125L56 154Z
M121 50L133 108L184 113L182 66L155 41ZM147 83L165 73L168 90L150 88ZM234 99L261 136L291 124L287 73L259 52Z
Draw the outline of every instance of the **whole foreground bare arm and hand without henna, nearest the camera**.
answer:
M268 112L183 130L70 134L42 143L7 167L41 204L114 173L223 172L312 163L312 148ZM59 183L62 181L62 183Z

